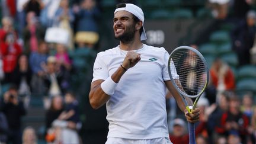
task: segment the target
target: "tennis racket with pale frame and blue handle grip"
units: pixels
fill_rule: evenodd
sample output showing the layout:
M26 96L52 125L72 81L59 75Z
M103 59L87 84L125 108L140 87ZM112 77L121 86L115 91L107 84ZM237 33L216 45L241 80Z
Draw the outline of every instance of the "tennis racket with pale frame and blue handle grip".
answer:
M206 60L201 53L193 47L180 46L174 49L169 56L168 72L171 82L185 104L189 113L197 105L197 101L207 87L209 81L209 69ZM175 75L177 72L177 75ZM188 104L186 97L194 100ZM194 123L188 123L190 144L196 143Z

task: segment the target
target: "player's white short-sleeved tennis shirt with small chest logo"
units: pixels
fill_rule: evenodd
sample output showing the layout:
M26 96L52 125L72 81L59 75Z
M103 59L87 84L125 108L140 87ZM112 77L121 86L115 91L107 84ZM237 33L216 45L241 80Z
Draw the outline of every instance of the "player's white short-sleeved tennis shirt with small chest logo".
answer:
M169 54L163 47L146 44L135 52L140 53L141 60L124 73L106 104L108 137L169 137L164 83L170 79L167 68ZM111 76L123 63L126 53L119 46L98 53L92 82Z

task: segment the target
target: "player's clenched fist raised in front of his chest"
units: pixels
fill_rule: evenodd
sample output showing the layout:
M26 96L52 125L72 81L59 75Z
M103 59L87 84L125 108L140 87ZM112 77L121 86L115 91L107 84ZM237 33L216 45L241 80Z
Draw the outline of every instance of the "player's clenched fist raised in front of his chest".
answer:
M139 62L140 54L136 52L127 52L126 57L122 63L123 67L126 69L132 68Z

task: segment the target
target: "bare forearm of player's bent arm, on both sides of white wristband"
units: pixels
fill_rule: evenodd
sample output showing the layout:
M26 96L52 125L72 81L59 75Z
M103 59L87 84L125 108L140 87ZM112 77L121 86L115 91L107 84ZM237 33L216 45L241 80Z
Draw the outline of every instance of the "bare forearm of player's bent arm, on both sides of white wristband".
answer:
M111 75L111 79L116 84L120 81L121 76L124 74L124 69L119 66L116 72ZM101 84L103 83L103 80L97 80L95 82L92 82L91 85L91 91L89 92L89 101L92 106L92 108L97 109L103 106L107 101L110 99L111 95L106 94L104 92L103 88L101 88Z

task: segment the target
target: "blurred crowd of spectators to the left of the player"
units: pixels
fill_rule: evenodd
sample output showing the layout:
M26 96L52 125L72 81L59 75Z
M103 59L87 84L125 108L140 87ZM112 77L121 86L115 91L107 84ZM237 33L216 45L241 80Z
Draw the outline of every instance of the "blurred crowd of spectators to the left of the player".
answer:
M100 14L95 0L1 1L0 143L37 143L36 130L21 123L34 95L46 96L46 142L81 142L69 54L96 49Z

